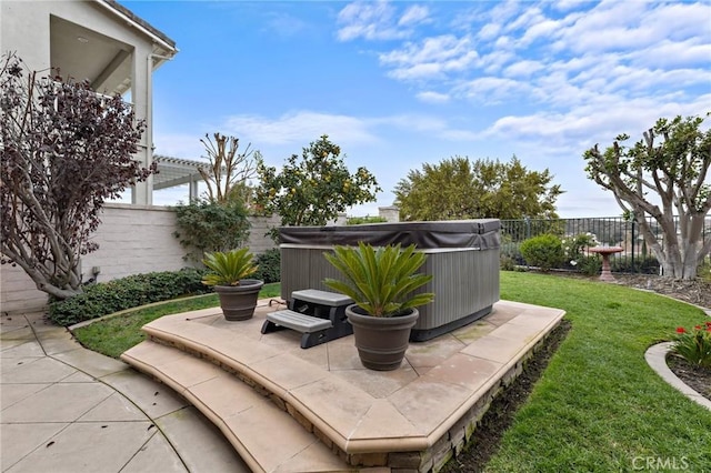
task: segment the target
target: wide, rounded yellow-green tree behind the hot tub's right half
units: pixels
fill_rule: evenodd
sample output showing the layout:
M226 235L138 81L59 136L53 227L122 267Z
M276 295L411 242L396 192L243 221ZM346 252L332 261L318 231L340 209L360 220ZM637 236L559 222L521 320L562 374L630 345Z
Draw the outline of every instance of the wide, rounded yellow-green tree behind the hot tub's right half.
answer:
M398 182L400 218L412 220L555 219L555 199L563 191L553 177L529 171L517 157L511 162L455 157L423 164Z

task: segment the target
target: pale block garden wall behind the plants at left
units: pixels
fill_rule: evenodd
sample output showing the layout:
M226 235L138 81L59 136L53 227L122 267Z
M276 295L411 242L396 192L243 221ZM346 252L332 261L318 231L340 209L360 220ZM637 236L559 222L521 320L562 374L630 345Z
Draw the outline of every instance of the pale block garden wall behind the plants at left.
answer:
M92 270L100 272L97 281L106 282L130 274L152 271L176 271L190 265L186 251L173 236L176 213L167 207L107 204L102 223L94 233L99 250L82 258L84 281ZM251 218L252 229L247 245L257 254L274 248L264 236L278 218ZM0 266L0 311L3 313L41 311L47 294L39 291L24 271L10 264Z

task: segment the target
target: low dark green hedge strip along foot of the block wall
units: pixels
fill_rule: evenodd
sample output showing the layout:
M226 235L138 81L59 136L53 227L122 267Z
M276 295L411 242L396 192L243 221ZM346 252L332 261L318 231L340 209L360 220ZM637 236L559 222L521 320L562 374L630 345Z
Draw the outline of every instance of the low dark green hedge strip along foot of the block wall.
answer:
M81 294L49 304L49 318L59 325L72 325L113 312L212 289L202 284L204 270L134 274L109 282L89 284Z

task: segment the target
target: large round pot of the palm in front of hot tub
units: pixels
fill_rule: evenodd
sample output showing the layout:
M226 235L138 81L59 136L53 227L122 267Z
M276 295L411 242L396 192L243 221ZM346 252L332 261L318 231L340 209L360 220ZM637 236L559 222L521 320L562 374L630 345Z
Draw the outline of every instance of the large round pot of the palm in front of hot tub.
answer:
M410 330L420 316L417 309L410 311L404 315L383 318L367 315L354 304L346 308L363 366L378 371L400 368L410 344Z

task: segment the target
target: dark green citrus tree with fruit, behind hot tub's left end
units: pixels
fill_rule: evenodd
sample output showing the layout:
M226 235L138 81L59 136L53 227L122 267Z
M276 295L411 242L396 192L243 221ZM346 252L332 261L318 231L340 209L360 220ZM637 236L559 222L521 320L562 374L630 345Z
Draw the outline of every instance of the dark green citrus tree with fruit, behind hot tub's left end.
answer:
M348 207L375 200L375 177L365 168L351 174L340 154L324 134L303 149L301 160L292 154L279 173L258 164L258 204L279 214L282 225L326 225Z

